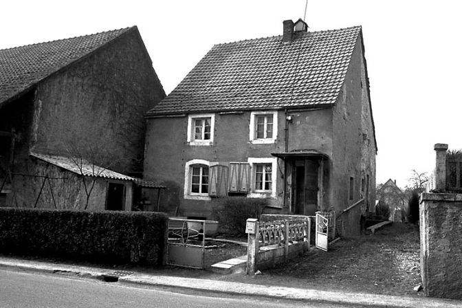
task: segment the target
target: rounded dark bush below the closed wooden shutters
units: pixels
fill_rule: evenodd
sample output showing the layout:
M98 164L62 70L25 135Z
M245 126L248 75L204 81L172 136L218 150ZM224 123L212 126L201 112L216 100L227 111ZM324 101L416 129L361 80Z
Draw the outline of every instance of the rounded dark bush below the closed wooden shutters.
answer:
M221 228L243 235L247 219L259 219L266 205L266 199L223 197L215 199L212 208Z

